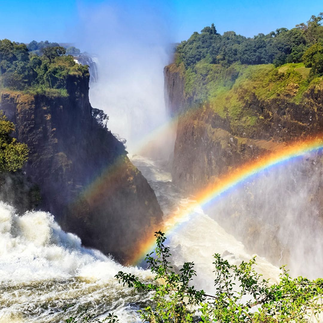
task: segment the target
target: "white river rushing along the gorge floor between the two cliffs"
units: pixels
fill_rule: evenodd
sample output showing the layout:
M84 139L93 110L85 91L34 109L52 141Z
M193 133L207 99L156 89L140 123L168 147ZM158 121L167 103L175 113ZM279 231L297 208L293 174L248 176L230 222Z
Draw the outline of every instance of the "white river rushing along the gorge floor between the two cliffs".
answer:
M133 156L131 161L148 179L154 189L164 217L170 216L176 208L185 207L192 199L187 198L173 183L172 176L165 171L161 162L141 156ZM208 293L214 292L214 253L221 254L232 264L248 261L252 255L244 245L228 234L214 219L196 207L192 214L182 220L182 225L168 236L173 263L181 266L184 261L193 261L197 271L194 286ZM265 258L257 256L257 271L266 278L277 280L280 270Z

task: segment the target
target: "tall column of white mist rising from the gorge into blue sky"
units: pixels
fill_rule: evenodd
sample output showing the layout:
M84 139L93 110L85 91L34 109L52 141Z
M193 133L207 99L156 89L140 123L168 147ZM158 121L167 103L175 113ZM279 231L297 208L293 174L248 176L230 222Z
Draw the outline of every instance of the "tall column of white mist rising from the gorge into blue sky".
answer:
M171 8L164 7L144 1L79 4L77 44L98 61L91 105L107 113L109 130L127 141L129 152L168 118L163 68L172 58L172 22Z

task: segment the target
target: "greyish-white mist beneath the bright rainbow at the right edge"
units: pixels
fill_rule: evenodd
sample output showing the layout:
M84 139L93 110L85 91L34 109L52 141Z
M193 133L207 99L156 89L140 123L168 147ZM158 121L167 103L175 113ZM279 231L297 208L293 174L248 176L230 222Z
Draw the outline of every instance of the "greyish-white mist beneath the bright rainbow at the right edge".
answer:
M323 269L322 162L305 156L270 168L204 208L248 249L292 276Z

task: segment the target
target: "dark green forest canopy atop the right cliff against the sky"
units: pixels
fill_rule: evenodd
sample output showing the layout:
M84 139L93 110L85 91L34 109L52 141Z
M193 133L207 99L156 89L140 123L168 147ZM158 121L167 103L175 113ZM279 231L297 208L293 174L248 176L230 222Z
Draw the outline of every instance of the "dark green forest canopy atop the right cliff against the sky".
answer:
M279 28L269 34L258 34L253 38L237 35L234 31L220 35L214 24L194 32L176 48L176 64L185 68L205 59L208 63L229 66L241 64L269 64L280 66L286 63L300 63L311 46L323 44L323 13L311 16L307 23L295 28ZM316 67L322 59L315 57ZM308 65L308 64L307 64ZM317 68L319 71L320 68Z

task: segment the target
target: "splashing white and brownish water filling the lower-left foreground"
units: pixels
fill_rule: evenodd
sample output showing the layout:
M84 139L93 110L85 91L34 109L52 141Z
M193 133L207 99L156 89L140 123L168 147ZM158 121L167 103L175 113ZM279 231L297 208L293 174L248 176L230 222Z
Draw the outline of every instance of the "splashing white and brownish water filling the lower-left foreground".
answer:
M151 279L149 271L125 268L97 250L81 246L45 212L23 216L0 202L0 321L60 322L88 308L94 316L114 311L122 322L139 321L136 295L114 278L130 271ZM67 312L63 308L71 305Z

